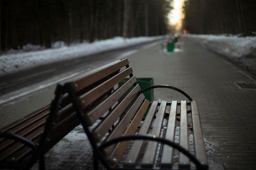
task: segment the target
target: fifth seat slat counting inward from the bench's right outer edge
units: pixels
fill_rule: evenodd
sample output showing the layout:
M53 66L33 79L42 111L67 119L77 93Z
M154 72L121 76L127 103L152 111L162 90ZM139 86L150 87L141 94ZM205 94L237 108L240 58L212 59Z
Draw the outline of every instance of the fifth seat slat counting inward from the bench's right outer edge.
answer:
M149 111L147 113L147 116L138 132L138 135L147 134L149 127L150 127L150 125L153 121L153 118L155 116L157 107L158 107L158 102L156 102L156 101L152 102L152 104L149 108ZM135 167L136 166L136 163L138 161L138 157L142 150L143 144L144 144L143 140L135 140L134 141L133 146L125 159L124 167Z

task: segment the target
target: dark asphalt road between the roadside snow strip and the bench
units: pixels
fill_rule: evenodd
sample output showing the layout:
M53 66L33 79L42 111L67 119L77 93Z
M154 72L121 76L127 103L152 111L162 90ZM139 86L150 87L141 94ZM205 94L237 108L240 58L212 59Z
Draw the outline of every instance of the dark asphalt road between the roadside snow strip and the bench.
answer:
M126 53L138 51L152 43L156 43L161 40L154 40L150 42L141 43L138 45L132 45L129 47L118 48L110 51L102 51L96 54L82 56L76 59L70 59L65 61L54 62L47 65L41 65L38 67L22 70L13 74L7 74L0 77L0 104L9 101L8 98L14 99L17 93L5 97L5 95L17 91L24 87L38 84L45 80L58 77L59 80L65 79L74 73L81 71L88 71L92 68L104 65L111 61L123 58ZM33 87L31 87L33 88ZM27 88L26 88L27 89ZM29 89L27 89L29 90ZM31 90L31 89L30 89Z

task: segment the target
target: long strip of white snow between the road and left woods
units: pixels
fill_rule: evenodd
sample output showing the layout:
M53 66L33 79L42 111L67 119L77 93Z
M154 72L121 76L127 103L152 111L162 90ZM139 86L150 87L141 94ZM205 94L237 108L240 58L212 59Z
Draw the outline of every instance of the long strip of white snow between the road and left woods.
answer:
M29 52L24 52L23 50L20 51L20 53L17 53L17 51L9 51L7 54L0 56L0 76L42 64L87 56L100 51L135 45L142 42L160 39L162 37L163 36L134 38L114 37L112 39L99 40L93 43L85 42L71 47L63 46L63 44L58 45L58 42L58 44L55 44L55 47L59 46L60 48ZM27 45L25 48L33 49L32 45Z

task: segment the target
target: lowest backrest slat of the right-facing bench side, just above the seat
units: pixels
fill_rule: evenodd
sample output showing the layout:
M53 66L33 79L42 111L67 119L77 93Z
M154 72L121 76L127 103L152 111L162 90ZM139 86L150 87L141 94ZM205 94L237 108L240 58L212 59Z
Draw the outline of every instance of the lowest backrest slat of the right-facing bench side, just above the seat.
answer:
M139 106L145 99L143 94L140 94L138 99L133 103L133 105L130 107L130 109L127 111L126 115L123 117L123 119L118 122L115 129L111 132L111 134L108 136L106 141L109 141L115 137L121 136L124 132L125 128L129 124L130 120L133 118L135 113L137 112ZM114 145L106 148L106 153L109 154L109 152L114 148Z

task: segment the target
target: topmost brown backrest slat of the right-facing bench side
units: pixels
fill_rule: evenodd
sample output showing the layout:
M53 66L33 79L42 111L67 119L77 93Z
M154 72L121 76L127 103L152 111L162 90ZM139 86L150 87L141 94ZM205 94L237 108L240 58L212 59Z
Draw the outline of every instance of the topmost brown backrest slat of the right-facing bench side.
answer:
M82 88L92 85L93 83L101 80L104 77L107 77L108 75L114 73L118 69L120 69L128 64L129 64L129 61L126 58L126 59L120 60L118 62L110 63L107 66L100 67L92 74L89 74L89 75L81 74L78 77L76 77L76 79L78 79L78 80L74 82L75 86L76 86L75 90L79 91ZM85 74L88 74L88 73L85 73ZM81 78L79 78L79 77L81 77Z

